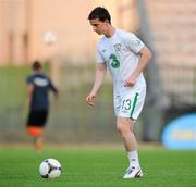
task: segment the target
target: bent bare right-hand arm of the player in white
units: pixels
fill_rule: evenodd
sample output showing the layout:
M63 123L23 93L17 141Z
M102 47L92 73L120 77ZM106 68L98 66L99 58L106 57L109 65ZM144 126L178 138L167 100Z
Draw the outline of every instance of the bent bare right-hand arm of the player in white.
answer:
M138 62L137 68L131 74L131 76L126 79L124 86L126 87L133 87L137 80L137 77L139 74L145 70L147 66L148 62L151 59L151 52L149 49L145 46L142 48L139 51L140 60Z

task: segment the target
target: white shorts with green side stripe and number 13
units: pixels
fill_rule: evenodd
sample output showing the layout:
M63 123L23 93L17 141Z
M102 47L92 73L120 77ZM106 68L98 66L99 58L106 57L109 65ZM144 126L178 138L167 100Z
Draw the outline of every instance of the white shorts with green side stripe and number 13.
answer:
M146 87L123 88L114 91L114 112L117 116L137 120L146 97Z

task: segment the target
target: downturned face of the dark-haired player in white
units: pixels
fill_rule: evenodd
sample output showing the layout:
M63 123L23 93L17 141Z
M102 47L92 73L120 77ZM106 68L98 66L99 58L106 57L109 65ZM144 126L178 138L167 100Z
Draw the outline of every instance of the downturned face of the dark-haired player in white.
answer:
M107 30L107 23L101 22L98 18L90 20L90 25L93 26L94 32L98 35L103 35Z

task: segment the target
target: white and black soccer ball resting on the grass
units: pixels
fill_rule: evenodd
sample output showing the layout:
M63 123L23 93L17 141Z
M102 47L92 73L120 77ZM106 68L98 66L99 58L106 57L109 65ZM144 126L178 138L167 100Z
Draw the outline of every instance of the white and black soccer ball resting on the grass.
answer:
M46 159L39 165L42 178L57 178L61 175L61 164L56 159Z

